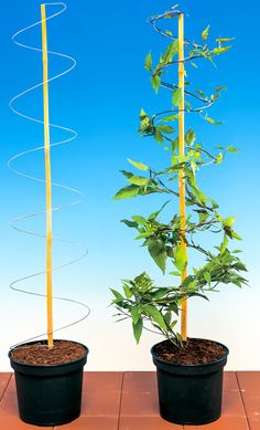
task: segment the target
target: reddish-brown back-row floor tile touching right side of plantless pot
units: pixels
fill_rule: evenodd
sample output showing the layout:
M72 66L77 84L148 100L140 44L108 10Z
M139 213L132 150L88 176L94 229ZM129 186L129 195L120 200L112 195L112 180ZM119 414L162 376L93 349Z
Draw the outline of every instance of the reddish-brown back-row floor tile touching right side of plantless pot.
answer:
M83 382L83 417L118 417L121 371L87 371Z

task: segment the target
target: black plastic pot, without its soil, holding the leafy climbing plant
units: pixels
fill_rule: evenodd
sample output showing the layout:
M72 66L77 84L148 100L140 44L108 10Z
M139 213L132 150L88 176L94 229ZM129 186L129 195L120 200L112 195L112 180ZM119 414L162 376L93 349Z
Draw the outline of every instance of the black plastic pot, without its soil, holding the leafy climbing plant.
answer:
M161 344L161 343L160 343ZM156 366L160 413L177 424L206 424L221 415L223 369L226 354L218 360L198 365L178 365L162 360L152 347Z

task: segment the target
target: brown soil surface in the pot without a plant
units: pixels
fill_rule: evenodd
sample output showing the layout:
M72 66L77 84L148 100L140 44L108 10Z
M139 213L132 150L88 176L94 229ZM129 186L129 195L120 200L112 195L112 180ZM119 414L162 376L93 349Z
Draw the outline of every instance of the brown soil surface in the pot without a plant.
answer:
M47 366L72 363L82 358L85 348L77 343L69 340L54 340L52 348L48 348L46 342L35 342L31 345L21 345L11 352L15 361L30 365Z

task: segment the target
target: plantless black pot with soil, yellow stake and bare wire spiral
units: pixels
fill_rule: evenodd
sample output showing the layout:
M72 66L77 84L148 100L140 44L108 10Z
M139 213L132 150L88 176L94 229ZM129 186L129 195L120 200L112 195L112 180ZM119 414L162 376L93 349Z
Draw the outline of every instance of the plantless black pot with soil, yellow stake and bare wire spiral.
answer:
M48 4L54 6L55 3L48 3ZM46 295L45 296L46 296L46 311L47 311L46 312L47 331L45 335L47 335L47 339L39 340L39 342L35 340L25 342L19 346L13 347L9 353L11 367L14 369L20 418L23 421L35 426L59 426L59 424L71 422L72 420L79 417L80 406L82 406L83 368L87 361L87 355L88 355L88 348L79 343L71 342L71 340L53 340L53 333L54 333L53 294L52 294L52 272L53 272L52 211L53 208L52 208L52 180L51 180L51 146L52 145L50 143L50 123L48 123L48 66L47 66L48 51L47 51L46 21L62 13L66 9L66 6L64 3L56 3L56 4L62 7L62 9L48 18L46 18L45 4L41 4L42 20L29 27L30 29L37 24L41 24L42 27L42 50L39 49L36 51L42 51L42 57L43 57L43 84L42 85L43 85L43 102L44 102L44 106L43 106L44 122L41 122L39 119L33 119L33 118L30 119L35 120L37 123L43 123L44 125L46 211L43 213L45 213L46 216ZM28 28L15 33L13 40L18 34L20 34L25 30L28 30ZM30 48L21 43L18 44L24 48L35 50L34 48ZM63 54L57 54L57 55L64 56ZM76 63L72 57L67 55L65 56L66 59L71 59L73 61L73 66L71 69L67 69L62 74L65 74L68 71L71 71ZM52 80L54 80L55 77L52 77ZM32 87L29 91L34 88L35 87ZM21 95L23 93L21 93ZM12 102L14 102L19 96L14 97L10 102L10 107L15 113L19 112L15 108L13 108ZM19 114L25 118L29 118L21 113ZM56 126L56 127L64 129L64 127L61 126ZM66 128L66 130L69 129ZM69 130L69 132L72 132L72 135L74 137L76 136L76 133L74 130ZM74 137L68 138L66 141L72 140ZM42 149L42 148L36 148L35 150L37 149ZM23 153L22 155L24 154L25 153ZM18 158L19 156L13 157L12 159ZM32 179L32 177L30 178ZM37 178L33 178L33 179L41 180ZM61 185L56 185L56 186L68 189L67 187L63 187ZM74 191L77 192L76 190ZM78 193L79 192L77 192L77 195ZM75 261L71 261L69 264L72 262ZM28 277L37 276L37 275L39 273L34 275L30 275ZM24 281L28 277L23 277L22 280L15 281L14 283ZM29 293L29 294L34 294L25 290L19 290L14 287L13 290ZM35 294L35 295L44 296L44 294ZM63 300L66 302L73 302L88 308L88 306L84 305L83 303L72 301L65 297L54 297L54 298ZM88 313L89 313L89 308L88 308ZM88 316L88 313L77 322L85 319ZM68 324L62 328L74 325L77 322ZM34 337L34 339L40 337L41 336L36 336Z

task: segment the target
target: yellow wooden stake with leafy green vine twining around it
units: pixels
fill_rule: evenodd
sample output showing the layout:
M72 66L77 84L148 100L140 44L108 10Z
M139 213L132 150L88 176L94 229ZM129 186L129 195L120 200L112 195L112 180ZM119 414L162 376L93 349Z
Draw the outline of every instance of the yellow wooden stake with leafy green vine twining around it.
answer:
M178 156L185 155L185 141L184 141L184 22L183 13L178 15L178 88L181 90L181 104L178 106ZM182 240L181 247L184 249L187 255L185 243L185 227L186 227L186 213L185 213L185 177L184 171L178 171L178 192L180 192L180 217L181 217L181 230ZM185 268L182 273L182 282L187 276L187 269ZM183 340L187 338L187 301L182 303L181 314L181 335Z

